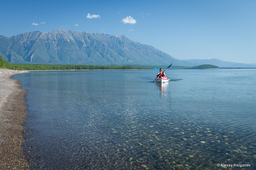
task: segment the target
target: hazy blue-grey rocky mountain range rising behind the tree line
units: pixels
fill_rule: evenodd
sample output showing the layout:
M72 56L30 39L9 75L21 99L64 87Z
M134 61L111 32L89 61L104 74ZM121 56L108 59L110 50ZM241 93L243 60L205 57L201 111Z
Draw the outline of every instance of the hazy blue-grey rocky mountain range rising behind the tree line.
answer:
M122 64L218 67L256 67L256 65L211 60L178 60L163 51L123 35L54 30L0 36L0 55L13 64Z

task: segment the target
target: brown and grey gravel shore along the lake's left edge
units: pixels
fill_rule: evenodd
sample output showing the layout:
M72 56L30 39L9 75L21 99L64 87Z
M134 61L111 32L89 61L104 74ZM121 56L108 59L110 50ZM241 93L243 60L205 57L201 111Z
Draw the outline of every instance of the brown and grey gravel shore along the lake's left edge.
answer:
M22 124L27 115L25 89L12 76L28 71L0 69L0 169L29 169L24 158Z

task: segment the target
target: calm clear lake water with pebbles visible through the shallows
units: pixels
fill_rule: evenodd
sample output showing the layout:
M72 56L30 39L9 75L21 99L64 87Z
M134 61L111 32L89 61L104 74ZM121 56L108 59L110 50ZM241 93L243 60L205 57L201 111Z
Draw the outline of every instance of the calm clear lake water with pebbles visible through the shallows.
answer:
M256 69L166 75L160 85L155 70L16 74L31 169L255 169Z

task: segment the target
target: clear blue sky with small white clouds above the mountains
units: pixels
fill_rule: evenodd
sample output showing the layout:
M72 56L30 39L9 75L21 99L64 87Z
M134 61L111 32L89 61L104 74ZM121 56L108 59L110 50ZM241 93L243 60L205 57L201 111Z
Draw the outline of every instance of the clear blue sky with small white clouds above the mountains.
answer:
M255 0L4 0L0 35L55 29L102 32L124 35L180 60L249 64L256 63L255 9Z

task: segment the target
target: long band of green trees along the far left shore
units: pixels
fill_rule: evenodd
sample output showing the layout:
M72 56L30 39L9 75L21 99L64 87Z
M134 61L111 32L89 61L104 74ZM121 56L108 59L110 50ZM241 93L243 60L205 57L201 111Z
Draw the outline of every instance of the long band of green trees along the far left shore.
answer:
M134 66L93 66L93 65L51 65L51 64L12 64L0 56L0 68L11 70L132 70L151 69Z

